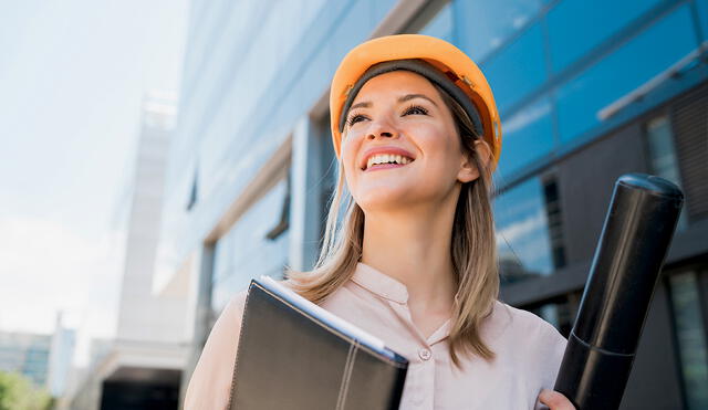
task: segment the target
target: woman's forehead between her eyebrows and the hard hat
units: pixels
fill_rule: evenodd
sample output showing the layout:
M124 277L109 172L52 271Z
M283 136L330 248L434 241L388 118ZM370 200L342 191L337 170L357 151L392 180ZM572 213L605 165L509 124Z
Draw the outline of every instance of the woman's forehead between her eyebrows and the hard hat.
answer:
M406 94L425 94L426 96L439 99L437 90L423 75L409 71L393 71L377 75L367 81L360 90L352 104L365 102L374 97L386 95L400 96Z

